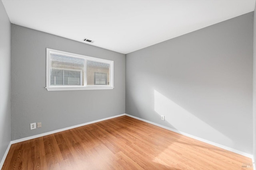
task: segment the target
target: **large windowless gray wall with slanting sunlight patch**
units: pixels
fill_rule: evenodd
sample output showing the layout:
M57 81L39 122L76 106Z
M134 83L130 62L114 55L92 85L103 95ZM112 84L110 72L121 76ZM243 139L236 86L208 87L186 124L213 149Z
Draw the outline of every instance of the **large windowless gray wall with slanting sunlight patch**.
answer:
M252 35L253 12L127 54L126 113L252 154Z

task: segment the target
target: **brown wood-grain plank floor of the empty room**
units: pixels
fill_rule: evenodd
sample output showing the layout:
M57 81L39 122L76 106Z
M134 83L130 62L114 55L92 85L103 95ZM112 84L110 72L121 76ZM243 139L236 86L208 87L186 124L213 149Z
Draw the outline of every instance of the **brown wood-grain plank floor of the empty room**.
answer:
M13 144L2 170L252 170L252 160L128 116Z

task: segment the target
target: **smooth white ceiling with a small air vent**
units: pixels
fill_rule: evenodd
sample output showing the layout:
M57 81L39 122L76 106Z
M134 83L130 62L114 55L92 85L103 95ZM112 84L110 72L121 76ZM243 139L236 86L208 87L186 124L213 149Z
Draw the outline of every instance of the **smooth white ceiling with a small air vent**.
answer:
M127 54L254 11L255 0L2 0L11 23Z

